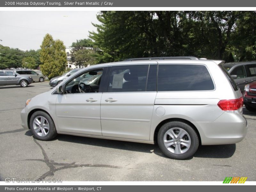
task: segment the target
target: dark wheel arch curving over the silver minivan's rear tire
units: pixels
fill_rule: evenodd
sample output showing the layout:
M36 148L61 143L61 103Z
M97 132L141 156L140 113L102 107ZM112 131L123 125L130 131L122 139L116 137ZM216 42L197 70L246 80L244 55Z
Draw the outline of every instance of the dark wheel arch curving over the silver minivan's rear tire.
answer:
M195 132L196 132L196 134L197 134L197 136L198 136L199 145L201 145L201 136L200 136L200 133L199 133L198 129L196 128L196 126L195 126L193 123L191 123L190 121L188 121L188 120L186 120L186 119L182 119L182 118L169 118L169 119L165 119L165 120L161 121L161 122L156 126L156 129L155 129L155 132L154 132L154 143L157 143L157 134L158 134L160 128L161 128L165 123L168 123L168 122L170 122L170 121L180 121L180 122L182 122L182 123L186 123L186 124L188 124L189 126L191 126L191 127L195 130Z

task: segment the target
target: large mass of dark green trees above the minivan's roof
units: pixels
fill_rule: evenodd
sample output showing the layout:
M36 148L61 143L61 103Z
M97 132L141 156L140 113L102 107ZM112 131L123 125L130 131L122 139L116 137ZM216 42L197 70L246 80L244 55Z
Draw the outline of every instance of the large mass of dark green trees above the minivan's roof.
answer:
M90 32L97 63L125 58L196 56L255 60L256 12L102 11Z

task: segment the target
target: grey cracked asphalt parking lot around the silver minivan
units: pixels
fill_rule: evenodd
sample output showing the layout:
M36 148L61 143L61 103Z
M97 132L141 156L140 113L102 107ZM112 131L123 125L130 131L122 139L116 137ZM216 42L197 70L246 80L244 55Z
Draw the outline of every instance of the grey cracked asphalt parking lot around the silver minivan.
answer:
M27 99L50 90L48 82L0 87L0 180L63 181L223 181L256 180L256 113L243 109L248 132L231 145L200 146L187 160L164 156L157 145L58 135L35 140L21 126Z

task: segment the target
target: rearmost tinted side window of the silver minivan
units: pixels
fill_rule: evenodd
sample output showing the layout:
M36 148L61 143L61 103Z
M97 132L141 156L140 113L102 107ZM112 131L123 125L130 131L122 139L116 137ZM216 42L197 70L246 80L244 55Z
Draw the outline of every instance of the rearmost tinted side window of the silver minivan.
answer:
M212 78L204 65L159 65L157 91L210 91Z

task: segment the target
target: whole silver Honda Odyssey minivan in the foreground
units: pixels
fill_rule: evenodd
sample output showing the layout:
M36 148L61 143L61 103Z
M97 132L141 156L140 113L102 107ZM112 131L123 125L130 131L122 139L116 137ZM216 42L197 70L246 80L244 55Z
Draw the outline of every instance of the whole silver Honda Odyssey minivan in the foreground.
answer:
M219 60L138 58L77 71L27 100L22 126L39 140L57 133L158 143L166 156L193 156L199 143L246 135L243 97Z

